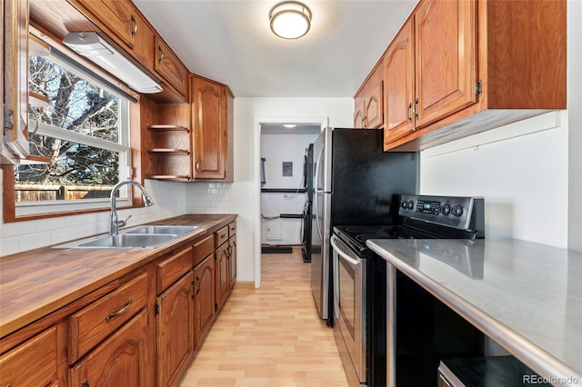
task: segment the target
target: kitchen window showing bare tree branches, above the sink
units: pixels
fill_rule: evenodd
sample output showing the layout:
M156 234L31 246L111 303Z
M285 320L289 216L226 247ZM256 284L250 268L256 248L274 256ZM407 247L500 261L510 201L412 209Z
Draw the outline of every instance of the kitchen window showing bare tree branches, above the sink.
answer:
M100 79L62 54L29 56L33 161L15 166L15 217L109 208L131 176L130 102ZM117 203L130 199L125 187Z

